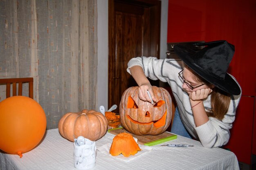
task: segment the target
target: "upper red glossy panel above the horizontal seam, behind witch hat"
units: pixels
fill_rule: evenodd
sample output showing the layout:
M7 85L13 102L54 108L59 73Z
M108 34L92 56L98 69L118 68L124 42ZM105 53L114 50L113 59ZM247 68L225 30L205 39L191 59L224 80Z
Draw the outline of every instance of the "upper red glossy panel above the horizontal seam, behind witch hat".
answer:
M243 95L256 95L256 0L169 0L167 42L227 40L229 73Z

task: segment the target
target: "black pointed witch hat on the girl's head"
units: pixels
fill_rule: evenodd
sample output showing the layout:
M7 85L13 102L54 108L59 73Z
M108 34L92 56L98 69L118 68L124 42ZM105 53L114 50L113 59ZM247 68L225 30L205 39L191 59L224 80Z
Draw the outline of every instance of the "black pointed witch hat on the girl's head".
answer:
M235 46L225 40L193 45L205 47L199 51L193 51L186 46L176 45L174 51L202 78L231 95L239 95L241 90L238 83L227 73Z

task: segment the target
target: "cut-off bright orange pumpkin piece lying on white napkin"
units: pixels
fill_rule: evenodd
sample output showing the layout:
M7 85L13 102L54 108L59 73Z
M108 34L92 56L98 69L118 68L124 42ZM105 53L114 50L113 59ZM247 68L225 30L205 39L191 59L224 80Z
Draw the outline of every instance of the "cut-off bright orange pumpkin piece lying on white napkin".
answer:
M113 138L109 153L112 156L123 154L125 157L129 157L130 155L135 155L140 150L132 135L123 132Z

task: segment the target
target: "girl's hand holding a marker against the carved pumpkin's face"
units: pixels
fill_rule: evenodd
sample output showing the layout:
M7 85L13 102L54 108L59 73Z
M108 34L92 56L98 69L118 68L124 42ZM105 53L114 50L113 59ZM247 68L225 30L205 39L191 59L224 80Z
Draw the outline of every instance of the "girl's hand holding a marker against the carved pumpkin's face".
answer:
M149 93L153 99L153 102L156 102L156 99L155 99L155 96L153 93L153 88L150 83L141 84L141 86L139 87L139 98L143 101L148 101L151 103L151 99L148 96L147 91L149 91Z

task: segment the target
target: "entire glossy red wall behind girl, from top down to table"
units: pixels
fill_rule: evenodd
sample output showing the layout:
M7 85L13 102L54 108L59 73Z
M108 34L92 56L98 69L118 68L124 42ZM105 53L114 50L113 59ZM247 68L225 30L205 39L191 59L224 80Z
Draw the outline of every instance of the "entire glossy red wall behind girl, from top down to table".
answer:
M226 148L250 164L256 144L256 0L168 1L168 43L215 40L235 45L228 73L236 77L243 95Z

